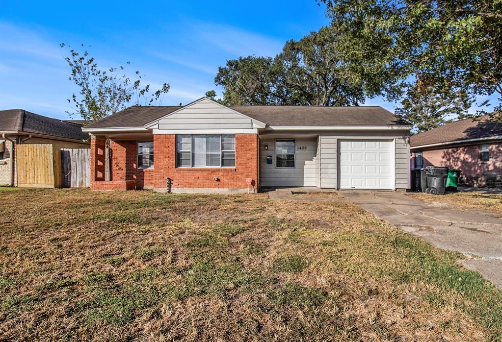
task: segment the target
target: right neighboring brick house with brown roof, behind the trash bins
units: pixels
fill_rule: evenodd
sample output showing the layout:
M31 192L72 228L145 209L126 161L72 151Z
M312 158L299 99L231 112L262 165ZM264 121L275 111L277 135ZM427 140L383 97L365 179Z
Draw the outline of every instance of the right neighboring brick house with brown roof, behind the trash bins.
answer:
M502 123L485 119L451 122L413 135L412 168L458 168L462 185L502 187Z

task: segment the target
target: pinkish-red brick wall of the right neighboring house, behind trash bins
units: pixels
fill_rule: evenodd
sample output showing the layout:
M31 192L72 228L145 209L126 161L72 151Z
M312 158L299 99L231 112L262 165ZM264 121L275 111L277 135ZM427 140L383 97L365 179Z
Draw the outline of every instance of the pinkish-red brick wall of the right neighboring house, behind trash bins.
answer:
M490 144L490 160L481 161L480 145L423 151L424 166L448 166L462 170L460 184L502 187L502 142Z

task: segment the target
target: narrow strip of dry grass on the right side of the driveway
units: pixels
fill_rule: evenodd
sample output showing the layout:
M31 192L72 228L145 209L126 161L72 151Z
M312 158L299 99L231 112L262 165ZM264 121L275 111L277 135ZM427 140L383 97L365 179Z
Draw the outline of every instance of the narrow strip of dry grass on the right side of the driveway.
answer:
M446 203L460 210L483 209L502 214L502 195L484 194L478 192L446 193L445 195L430 195L423 193L408 193L410 197L427 203Z

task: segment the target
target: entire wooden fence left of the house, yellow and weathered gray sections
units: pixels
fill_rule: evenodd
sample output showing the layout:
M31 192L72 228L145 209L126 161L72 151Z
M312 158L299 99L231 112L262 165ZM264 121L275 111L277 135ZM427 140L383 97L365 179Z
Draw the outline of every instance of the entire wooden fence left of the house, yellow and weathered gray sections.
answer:
M18 187L85 188L90 186L89 148L52 144L16 145Z

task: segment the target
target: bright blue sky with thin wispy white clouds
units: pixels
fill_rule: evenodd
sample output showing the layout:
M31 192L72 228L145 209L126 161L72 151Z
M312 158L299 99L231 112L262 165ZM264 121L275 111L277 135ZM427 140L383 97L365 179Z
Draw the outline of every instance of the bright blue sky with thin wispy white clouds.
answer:
M78 6L75 6L78 4ZM171 85L163 105L189 103L214 85L218 66L247 55L275 55L289 39L327 25L314 0L253 2L14 2L0 5L0 110L22 108L68 118L78 89L68 80L65 43L102 69L131 62L145 82ZM90 47L88 47L90 46ZM380 98L365 105L394 103ZM75 117L76 118L76 117Z

